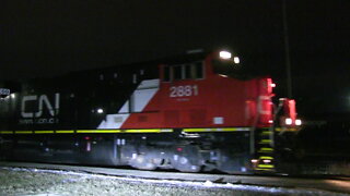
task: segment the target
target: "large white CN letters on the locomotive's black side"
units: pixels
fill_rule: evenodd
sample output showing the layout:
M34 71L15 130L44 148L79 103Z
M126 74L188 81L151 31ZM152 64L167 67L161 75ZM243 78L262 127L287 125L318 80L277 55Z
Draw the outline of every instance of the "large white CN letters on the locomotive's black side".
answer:
M26 112L26 105L30 101L37 101L38 102L38 110L37 112ZM44 106L48 110L49 114L51 117L55 117L58 114L59 111L59 94L55 94L55 109L52 108L51 102L48 100L46 95L40 95L40 96L24 96L22 99L22 106L21 106L21 115L23 118L39 118L43 115L43 109Z

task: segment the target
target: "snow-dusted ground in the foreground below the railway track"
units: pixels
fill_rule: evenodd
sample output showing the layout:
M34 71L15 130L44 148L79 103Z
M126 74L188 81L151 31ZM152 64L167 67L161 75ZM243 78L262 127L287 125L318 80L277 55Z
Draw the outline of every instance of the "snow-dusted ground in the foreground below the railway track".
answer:
M144 180L57 170L0 168L0 196L342 195L302 188ZM345 194L343 194L345 195Z

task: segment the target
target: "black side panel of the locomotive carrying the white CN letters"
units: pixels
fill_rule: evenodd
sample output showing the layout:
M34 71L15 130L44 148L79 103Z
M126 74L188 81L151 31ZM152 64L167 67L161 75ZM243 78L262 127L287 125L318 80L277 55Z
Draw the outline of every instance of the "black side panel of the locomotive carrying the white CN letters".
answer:
M71 74L55 79L25 83L13 98L3 122L14 131L95 130L108 113L132 100L142 81L156 77L154 66L132 66L104 72ZM124 113L135 110L129 106Z

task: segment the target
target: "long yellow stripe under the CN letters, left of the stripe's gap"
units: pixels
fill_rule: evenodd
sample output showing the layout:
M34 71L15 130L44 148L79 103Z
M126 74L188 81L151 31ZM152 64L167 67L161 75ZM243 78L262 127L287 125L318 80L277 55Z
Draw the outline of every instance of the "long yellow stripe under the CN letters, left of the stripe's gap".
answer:
M148 130L77 130L75 133L170 133L173 128L148 128ZM73 130L58 131L0 131L0 134L69 134Z

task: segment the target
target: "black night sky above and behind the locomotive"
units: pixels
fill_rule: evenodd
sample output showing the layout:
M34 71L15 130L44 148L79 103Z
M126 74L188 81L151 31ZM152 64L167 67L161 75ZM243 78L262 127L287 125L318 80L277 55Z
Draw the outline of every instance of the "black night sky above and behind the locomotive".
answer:
M302 106L331 99L326 110L350 111L350 1L287 1L294 97ZM283 84L281 2L1 1L0 77L54 76L231 47L244 65Z

